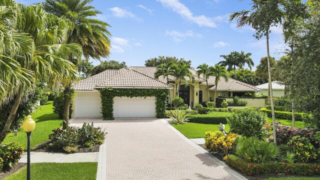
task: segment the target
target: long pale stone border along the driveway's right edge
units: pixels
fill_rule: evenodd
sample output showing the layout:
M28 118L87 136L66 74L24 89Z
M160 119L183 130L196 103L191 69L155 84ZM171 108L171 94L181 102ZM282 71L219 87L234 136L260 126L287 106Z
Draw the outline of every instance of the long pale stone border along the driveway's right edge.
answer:
M195 147L197 150L199 150L199 152L205 154L206 156L210 157L210 159L216 163L217 165L223 166L223 169L227 172L229 172L232 176L234 176L236 179L239 180L243 180L243 179L247 179L245 178L243 175L241 175L240 173L238 173L237 171L231 169L228 165L226 165L224 162L220 161L218 158L216 158L215 156L213 156L211 153L209 153L207 150L205 150L204 148L202 148L201 146L197 145L196 143L194 143L193 141L191 141L190 139L188 139L187 137L185 137L180 131L178 131L176 128L174 128L171 124L169 124L167 122L166 119L160 119L164 124L166 124L170 129L172 129L175 133L177 133L183 140L185 140L186 142L188 142L190 145L192 145L193 147Z

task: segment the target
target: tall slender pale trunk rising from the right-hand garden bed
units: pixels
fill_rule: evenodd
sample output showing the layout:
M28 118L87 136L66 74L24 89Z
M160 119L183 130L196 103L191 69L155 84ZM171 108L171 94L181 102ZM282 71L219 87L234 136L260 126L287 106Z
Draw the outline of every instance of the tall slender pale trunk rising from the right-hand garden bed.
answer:
M271 113L272 113L272 128L273 128L273 142L276 144L276 133L275 133L275 117L274 117L274 104L272 94L272 79L271 79L271 65L270 65L270 53L269 53L269 30L266 31L266 53L268 62L268 82L270 91L270 102L271 102Z

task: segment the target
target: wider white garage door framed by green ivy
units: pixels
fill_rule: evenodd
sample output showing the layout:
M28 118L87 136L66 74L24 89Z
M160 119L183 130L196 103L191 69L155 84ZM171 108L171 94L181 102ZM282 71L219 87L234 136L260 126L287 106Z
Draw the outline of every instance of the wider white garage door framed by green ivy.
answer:
M114 97L114 117L155 117L155 97Z

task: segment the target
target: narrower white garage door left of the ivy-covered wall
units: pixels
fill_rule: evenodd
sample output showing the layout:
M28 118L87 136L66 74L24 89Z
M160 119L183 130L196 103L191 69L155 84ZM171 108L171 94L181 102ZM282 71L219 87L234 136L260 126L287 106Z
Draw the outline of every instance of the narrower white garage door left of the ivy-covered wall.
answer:
M97 91L76 92L74 98L75 117L101 117L101 98Z

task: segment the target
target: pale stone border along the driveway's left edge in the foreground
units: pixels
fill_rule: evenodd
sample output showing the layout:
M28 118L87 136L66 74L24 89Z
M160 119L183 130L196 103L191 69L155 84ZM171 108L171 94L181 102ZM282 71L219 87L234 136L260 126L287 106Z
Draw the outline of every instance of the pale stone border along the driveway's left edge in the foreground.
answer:
M96 171L96 180L106 179L106 138L104 143L100 145L98 156L98 167Z

